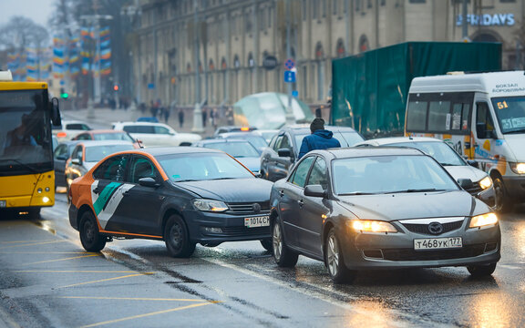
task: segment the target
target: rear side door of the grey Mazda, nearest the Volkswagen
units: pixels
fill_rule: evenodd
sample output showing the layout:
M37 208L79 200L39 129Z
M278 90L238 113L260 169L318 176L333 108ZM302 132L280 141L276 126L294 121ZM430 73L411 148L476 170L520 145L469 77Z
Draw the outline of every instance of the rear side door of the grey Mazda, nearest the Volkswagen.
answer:
M293 170L290 176L279 193L279 213L283 221L283 232L286 242L295 247L299 247L301 240L304 239L299 221L299 214L303 206L303 190L306 183L307 174L312 167L314 157L309 156L304 158L297 167Z

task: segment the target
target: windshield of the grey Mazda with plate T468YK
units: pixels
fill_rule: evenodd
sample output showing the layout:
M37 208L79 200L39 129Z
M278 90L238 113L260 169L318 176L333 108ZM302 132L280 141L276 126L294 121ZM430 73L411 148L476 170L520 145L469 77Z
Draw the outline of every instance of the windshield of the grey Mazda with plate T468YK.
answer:
M458 190L447 171L423 155L335 159L332 169L338 195Z

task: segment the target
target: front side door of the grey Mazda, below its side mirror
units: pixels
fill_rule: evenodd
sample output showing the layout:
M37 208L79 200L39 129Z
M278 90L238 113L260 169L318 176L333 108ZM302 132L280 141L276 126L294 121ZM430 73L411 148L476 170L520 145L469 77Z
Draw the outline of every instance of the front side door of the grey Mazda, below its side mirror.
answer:
M317 157L305 185L321 185L326 190L328 181L326 162L324 158ZM326 200L322 197L309 197L303 194L297 216L297 225L302 231L299 245L318 257L323 256L323 216L329 212L325 204Z

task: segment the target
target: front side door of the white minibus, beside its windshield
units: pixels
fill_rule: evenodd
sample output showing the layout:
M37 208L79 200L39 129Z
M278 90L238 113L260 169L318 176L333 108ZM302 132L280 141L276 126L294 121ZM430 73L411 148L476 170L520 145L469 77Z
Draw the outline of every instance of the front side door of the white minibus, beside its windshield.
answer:
M489 100L476 99L472 120L475 159L479 162L479 169L489 172L492 166L498 165L498 157L494 157L494 148L498 138L494 126L494 118L489 108Z

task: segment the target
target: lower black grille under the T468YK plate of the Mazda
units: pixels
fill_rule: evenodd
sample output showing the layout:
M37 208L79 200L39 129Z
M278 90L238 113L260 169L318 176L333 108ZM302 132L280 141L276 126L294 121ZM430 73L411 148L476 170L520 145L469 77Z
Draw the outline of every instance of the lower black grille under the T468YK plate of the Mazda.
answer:
M385 249L383 259L388 261L433 261L474 257L483 254L485 244L464 246L458 250L414 251L412 249Z

